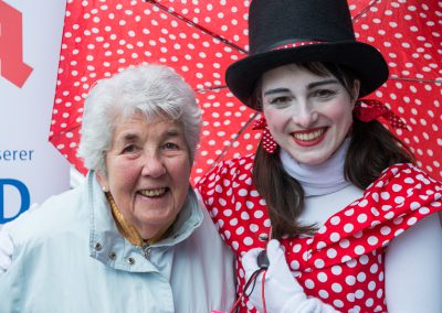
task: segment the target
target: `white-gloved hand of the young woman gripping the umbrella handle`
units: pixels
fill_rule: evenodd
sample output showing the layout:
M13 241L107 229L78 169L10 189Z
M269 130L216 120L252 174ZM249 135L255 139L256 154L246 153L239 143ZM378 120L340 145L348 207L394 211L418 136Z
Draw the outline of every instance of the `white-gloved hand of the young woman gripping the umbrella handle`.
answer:
M259 269L256 258L262 249L252 249L243 255L242 266L245 271L245 279ZM292 276L285 261L285 255L275 239L267 244L267 257L270 266L265 274L265 306L267 313L334 313L333 306L323 303L319 299L307 298L303 288ZM249 300L257 311L263 312L262 301L262 277L256 279L255 288ZM253 283L251 284L253 285ZM248 292L248 291L245 291Z

